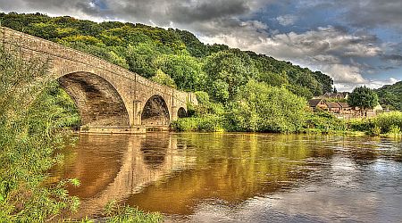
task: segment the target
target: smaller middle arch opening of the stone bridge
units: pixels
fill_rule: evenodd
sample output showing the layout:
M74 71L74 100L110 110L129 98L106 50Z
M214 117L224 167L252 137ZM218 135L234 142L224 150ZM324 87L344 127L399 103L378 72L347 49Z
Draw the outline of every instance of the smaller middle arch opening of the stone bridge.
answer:
M153 95L141 113L141 125L169 126L171 123L169 109L161 95Z

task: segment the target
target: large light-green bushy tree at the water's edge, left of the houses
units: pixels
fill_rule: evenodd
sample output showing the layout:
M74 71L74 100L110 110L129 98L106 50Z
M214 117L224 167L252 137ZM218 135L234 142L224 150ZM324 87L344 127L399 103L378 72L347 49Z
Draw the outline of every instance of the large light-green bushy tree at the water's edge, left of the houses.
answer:
M297 132L304 122L306 100L283 87L250 80L230 103L230 127L236 131Z

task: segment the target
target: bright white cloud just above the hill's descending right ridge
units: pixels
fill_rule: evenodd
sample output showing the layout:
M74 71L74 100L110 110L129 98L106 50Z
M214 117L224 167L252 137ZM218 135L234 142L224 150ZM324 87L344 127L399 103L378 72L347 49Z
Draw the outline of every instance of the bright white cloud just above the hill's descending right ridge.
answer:
M350 86L365 84L368 80L362 75L362 64L344 61L350 57L381 54L381 48L374 45L375 37L351 35L344 29L331 26L298 34L289 32L270 35L258 31L255 24L249 23L246 27L231 29L227 34L201 39L207 43L228 44L292 61L313 70L322 70L335 82Z

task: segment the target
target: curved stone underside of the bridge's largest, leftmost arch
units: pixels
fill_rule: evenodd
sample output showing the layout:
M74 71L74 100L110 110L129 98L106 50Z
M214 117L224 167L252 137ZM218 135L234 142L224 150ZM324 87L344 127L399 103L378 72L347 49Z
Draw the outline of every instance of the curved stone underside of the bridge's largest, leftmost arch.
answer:
M95 128L129 128L129 113L121 95L105 78L75 72L58 79L80 111L81 125Z

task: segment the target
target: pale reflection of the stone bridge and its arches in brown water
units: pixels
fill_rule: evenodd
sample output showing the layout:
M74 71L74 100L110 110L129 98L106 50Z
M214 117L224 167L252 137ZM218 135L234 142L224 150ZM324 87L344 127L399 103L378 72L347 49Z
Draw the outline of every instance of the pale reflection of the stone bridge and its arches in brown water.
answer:
M169 178L173 171L188 169L194 159L180 155L177 137L169 133L146 135L80 135L68 148L65 165L54 169L59 178L79 178L81 185L68 188L80 197L79 214L99 213L107 202L124 202L145 186Z

